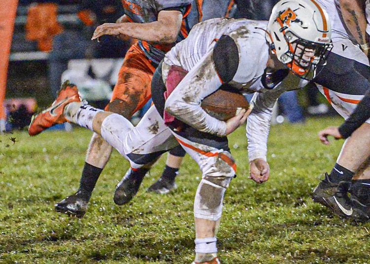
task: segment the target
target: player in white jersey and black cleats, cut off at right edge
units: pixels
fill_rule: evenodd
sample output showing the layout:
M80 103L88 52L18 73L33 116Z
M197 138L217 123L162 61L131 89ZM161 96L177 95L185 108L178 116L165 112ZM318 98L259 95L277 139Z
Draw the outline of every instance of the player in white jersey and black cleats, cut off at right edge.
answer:
M366 55L369 37L366 34L365 6L362 5L364 0L318 2L327 9L332 20L333 50L315 82L321 85L319 90L333 108L347 119L370 91L370 68ZM363 105L357 112L361 109L369 111L369 106ZM364 120L364 117L366 114L362 114L360 119ZM358 114L349 118L347 124L356 126L354 120L359 120ZM326 205L338 215L359 221L367 221L370 216L370 167L366 164L370 155L370 120L364 121L351 137L351 132L342 127L342 133L348 139L343 144L333 170L325 175L313 194L315 201ZM364 169L358 171L361 166ZM352 205L347 195L350 185L349 192L355 198Z

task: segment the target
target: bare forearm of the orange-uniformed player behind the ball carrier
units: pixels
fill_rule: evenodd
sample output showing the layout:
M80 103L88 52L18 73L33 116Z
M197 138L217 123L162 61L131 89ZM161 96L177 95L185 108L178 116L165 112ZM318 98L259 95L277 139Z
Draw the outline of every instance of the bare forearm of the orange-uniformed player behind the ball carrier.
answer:
M158 20L151 23L103 24L96 28L91 39L97 39L103 35L126 35L149 42L171 44L177 39L182 19L183 15L180 11L162 10L158 14Z

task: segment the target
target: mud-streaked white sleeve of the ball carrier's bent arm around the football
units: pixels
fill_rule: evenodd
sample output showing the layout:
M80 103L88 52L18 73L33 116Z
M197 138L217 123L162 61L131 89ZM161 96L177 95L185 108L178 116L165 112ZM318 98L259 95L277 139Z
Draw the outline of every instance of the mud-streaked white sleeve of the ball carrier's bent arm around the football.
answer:
M217 91L221 85L211 48L168 97L165 110L201 132L224 136L226 123L210 116L200 107L202 99Z

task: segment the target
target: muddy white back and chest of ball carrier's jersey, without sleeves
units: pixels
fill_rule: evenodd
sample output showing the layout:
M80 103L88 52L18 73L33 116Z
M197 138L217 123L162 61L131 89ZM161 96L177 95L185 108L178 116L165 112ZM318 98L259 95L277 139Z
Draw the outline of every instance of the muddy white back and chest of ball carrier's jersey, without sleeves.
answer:
M252 21L246 19L215 18L195 25L185 40L176 44L165 56L164 63L177 65L189 71L209 51L213 50L217 40L222 35L231 36L239 48L246 50L239 54L239 78L235 81L249 82L245 72L254 72L260 76L263 73L268 58L268 45L263 31L267 21ZM242 47L241 47L242 46ZM259 49L256 49L259 47ZM253 52L252 52L253 51ZM248 53L248 55L247 55ZM248 56L248 61L243 57ZM249 63L254 61L255 63ZM249 74L250 75L250 74ZM247 79L248 80L247 80Z

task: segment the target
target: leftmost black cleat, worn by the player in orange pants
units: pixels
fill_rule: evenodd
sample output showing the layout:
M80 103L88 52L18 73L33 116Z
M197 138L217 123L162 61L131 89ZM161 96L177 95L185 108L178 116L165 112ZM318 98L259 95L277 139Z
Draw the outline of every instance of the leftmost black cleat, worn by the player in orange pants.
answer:
M81 218L86 213L90 197L91 193L84 190L78 190L75 194L64 198L55 204L55 211Z

